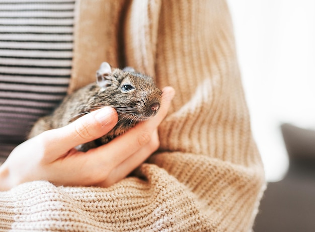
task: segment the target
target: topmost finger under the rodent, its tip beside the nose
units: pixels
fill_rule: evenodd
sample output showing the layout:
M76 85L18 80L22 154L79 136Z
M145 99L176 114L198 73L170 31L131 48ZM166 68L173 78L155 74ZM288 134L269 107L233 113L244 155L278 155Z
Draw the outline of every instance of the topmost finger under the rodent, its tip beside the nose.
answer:
M174 95L175 91L172 87L164 88L159 112L151 119L137 124L134 128L131 128L125 134L115 138L111 142L94 149L93 152L95 152L95 156L99 156L98 160L104 163L109 162L113 164L113 168L115 168L131 156L131 154L148 143L151 140L153 131L156 130L167 115ZM104 157L103 152L105 147L107 151L113 151L106 157Z

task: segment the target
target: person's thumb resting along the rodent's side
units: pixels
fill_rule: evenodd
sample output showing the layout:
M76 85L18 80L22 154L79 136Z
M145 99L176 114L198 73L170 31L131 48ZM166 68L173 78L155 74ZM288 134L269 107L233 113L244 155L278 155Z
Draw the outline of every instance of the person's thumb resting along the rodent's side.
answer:
M116 110L104 107L78 118L67 126L50 130L48 137L51 142L58 144L58 153L62 154L77 145L102 137L116 125L117 120Z

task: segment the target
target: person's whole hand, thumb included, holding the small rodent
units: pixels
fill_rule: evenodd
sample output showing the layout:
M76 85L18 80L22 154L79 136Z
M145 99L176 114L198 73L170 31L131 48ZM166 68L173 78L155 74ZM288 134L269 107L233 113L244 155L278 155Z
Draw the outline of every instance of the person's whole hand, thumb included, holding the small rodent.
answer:
M156 116L87 152L73 147L109 132L118 118L113 108L93 111L67 126L45 131L21 143L0 167L0 190L35 180L47 180L58 186L108 187L118 182L159 147L157 127L166 116L174 94L173 88L164 88Z

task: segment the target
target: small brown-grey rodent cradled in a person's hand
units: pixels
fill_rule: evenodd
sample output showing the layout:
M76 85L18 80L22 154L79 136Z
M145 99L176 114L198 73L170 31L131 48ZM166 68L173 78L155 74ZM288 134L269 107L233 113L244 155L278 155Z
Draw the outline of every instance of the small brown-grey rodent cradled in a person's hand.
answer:
M87 151L121 135L137 122L154 116L159 111L162 91L152 78L131 67L112 68L103 62L96 72L97 81L67 95L51 115L40 118L28 138L49 129L65 126L90 111L111 106L116 109L118 122L103 137L77 146Z

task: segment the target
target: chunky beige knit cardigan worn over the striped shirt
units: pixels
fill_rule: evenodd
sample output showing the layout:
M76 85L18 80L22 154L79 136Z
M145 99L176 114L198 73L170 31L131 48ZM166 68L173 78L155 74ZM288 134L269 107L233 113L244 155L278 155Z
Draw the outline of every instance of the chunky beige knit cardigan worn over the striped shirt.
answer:
M75 27L69 92L102 61L176 89L160 151L110 188L0 192L0 230L250 231L265 180L226 3L81 0Z

